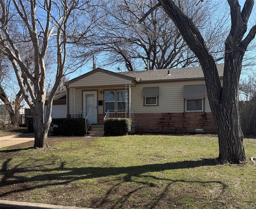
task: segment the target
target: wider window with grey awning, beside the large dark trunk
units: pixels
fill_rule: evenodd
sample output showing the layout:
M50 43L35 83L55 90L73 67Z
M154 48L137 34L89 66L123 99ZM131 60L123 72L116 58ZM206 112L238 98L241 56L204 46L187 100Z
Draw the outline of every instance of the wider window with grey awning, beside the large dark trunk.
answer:
M184 112L203 112L205 105L205 84L184 86Z

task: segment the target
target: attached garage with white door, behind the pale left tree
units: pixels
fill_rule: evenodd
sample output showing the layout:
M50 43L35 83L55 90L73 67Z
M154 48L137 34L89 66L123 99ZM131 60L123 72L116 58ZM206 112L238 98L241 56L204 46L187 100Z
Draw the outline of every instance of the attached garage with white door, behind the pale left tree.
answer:
M66 89L56 92L52 102L52 118L66 118L67 117L67 104L66 104ZM44 117L46 116L46 108L48 104L49 94L46 95L46 102L44 104Z

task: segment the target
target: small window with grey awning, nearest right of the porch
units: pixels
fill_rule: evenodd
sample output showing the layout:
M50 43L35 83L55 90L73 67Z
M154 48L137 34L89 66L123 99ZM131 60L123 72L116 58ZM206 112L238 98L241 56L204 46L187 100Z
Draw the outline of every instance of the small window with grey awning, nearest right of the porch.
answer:
M159 87L144 87L142 91L143 106L157 106Z

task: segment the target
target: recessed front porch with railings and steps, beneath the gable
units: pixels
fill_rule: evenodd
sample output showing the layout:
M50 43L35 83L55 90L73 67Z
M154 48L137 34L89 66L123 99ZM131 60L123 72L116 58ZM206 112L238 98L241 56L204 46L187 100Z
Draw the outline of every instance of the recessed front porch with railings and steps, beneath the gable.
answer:
M68 94L68 117L84 118L86 134L96 132L96 130L90 130L95 125L98 125L97 132L102 128L103 134L106 118L131 118L132 122L135 122L134 111L130 109L130 84L98 87L97 90L90 87L70 87Z

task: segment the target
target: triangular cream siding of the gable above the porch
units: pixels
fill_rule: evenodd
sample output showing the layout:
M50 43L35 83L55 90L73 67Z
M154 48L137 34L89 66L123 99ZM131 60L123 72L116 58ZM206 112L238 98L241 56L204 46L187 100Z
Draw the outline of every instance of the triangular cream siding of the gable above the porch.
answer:
M128 81L126 79L122 79L120 77L116 77L113 75L108 75L106 73L102 72L96 72L92 75L89 75L85 78L82 78L78 81L75 81L74 83L70 84L70 87L91 87L91 86L105 86L105 85L121 85L121 84L127 84L131 83L131 81Z

